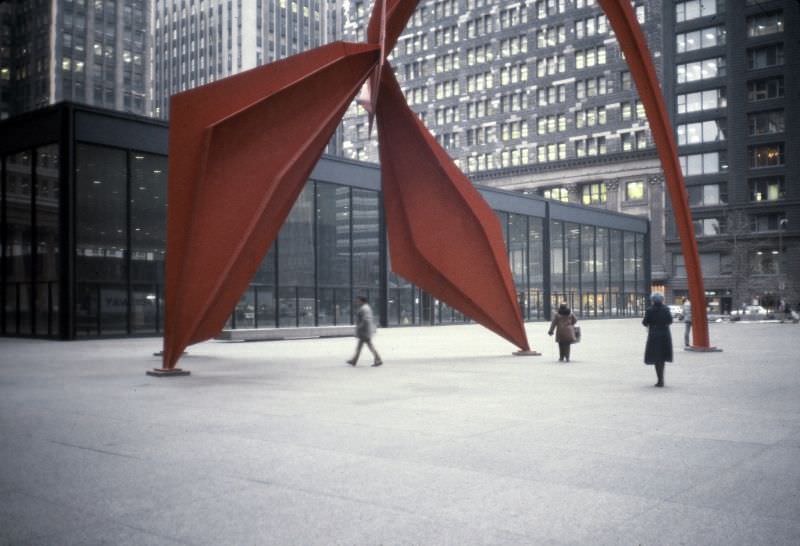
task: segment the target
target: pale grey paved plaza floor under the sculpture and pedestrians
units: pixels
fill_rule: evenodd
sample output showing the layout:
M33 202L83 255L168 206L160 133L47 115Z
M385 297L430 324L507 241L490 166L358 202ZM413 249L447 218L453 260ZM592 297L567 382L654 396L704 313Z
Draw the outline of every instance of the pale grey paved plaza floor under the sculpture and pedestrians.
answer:
M573 362L481 327L207 342L0 339L0 544L800 544L792 324L712 324L665 389L636 319ZM368 357L369 355L366 355Z

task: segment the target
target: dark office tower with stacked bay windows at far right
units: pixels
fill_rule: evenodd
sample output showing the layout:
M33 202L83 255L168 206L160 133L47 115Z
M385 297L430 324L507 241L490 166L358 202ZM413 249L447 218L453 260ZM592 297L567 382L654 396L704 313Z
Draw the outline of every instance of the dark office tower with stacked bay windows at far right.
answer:
M665 88L712 310L800 300L797 0L664 8ZM670 218L670 215L667 215ZM671 225L672 295L686 271Z

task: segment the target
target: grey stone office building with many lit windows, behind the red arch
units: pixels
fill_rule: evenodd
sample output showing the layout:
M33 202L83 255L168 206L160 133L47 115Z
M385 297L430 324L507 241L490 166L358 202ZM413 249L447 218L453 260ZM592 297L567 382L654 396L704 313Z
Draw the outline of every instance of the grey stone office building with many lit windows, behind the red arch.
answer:
M634 0L659 74L662 2ZM363 39L371 3L351 3ZM392 53L408 104L474 182L648 216L664 266L664 180L642 104L596 0L422 2ZM360 107L345 155L376 160Z

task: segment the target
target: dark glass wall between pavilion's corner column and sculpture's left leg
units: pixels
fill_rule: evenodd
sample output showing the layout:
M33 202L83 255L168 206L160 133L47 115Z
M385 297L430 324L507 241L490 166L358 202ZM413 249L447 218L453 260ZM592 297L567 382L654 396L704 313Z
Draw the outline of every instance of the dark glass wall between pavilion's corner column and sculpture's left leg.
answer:
M166 180L166 156L77 144L77 337L162 331Z

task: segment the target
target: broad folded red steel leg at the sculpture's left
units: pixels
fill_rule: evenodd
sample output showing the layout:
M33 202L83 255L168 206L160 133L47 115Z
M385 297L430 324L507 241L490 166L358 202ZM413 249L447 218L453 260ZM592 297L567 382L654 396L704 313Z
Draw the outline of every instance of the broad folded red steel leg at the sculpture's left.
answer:
M222 329L379 53L336 42L172 97L164 369Z

